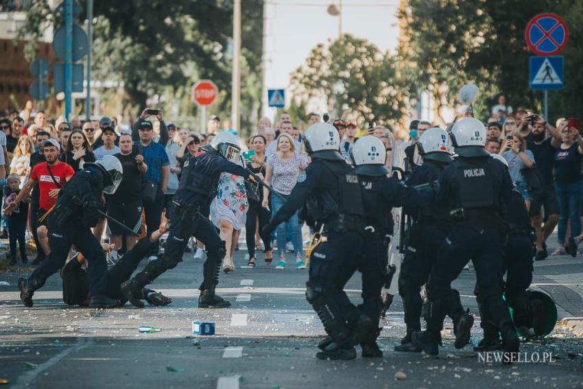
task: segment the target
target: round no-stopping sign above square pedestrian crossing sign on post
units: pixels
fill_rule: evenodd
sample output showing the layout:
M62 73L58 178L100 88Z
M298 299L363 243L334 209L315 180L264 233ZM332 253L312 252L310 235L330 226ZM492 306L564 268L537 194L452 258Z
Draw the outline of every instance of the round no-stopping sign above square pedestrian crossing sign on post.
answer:
M530 88L543 90L545 120L549 119L549 89L562 89L563 61L560 53L569 40L569 29L556 14L546 12L534 16L524 30L528 47L540 57L530 58ZM546 57L546 58L545 58Z

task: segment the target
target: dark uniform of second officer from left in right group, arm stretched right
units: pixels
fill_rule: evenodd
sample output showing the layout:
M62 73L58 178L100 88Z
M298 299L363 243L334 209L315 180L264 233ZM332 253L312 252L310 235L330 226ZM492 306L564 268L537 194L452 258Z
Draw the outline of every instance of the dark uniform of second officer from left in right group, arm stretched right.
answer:
M356 167L361 184L364 202L365 234L362 255L346 257L337 280L337 287L344 288L356 270L362 274L361 312L372 321L370 331L366 333L361 346L364 357L381 357L376 340L379 336L381 309L381 290L386 281L388 268L388 244L394 231L392 209L394 207L421 207L426 201L415 189L401 185L396 178L387 178L381 170L379 173L368 168L374 165ZM378 172L378 170L377 170Z

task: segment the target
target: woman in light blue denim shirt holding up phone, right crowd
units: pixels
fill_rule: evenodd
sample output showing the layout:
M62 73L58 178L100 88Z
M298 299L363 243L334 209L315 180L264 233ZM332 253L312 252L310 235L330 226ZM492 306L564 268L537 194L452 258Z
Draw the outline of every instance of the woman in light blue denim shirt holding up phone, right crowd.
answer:
M523 169L534 168L534 155L530 150L526 149L526 142L520 132L515 131L507 135L505 140L502 156L508 162L510 178L512 178L516 189L523 196L528 209L532 201L532 193L526 183Z

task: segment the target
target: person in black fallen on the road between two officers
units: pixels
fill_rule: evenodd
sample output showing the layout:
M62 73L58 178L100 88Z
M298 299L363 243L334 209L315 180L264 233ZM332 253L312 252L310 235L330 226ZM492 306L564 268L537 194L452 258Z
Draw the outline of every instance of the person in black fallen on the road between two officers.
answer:
M132 273L138 267L140 261L145 258L150 251L151 246L156 244L158 239L166 232L166 221L160 225L158 230L154 231L150 237L143 237L136 243L136 245L126 252L114 266L110 266L107 271L107 296L121 301L121 304L126 303L126 297L121 293L121 283L130 279ZM103 244L105 251L112 249L112 246ZM67 305L81 305L86 307L89 305L89 281L86 272L87 261L83 255L78 252L73 256L60 271L62 279L63 301ZM172 299L164 296L160 292L143 288L142 298L150 305L168 305Z

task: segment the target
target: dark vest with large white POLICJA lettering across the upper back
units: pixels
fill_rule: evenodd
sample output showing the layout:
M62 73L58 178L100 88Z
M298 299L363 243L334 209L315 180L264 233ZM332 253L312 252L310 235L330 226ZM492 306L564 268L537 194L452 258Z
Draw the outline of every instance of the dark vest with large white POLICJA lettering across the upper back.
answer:
M490 159L490 158L488 158ZM457 158L453 162L459 206L464 209L497 207L494 174L484 158Z

